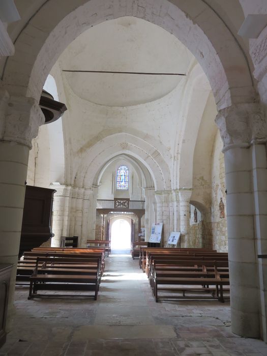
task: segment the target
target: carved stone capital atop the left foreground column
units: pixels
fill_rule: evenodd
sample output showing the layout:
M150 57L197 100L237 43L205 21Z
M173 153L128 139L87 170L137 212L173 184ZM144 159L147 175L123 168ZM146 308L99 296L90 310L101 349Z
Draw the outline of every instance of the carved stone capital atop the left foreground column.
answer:
M32 139L45 123L44 114L34 98L10 96L0 91L0 140L21 143L32 148Z

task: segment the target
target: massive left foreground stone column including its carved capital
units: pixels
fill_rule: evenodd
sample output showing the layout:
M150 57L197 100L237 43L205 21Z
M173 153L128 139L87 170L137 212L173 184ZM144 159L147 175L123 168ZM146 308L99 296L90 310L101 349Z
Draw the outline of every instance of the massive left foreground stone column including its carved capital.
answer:
M33 98L10 97L0 91L0 261L12 263L8 323L13 310L29 149L44 123Z

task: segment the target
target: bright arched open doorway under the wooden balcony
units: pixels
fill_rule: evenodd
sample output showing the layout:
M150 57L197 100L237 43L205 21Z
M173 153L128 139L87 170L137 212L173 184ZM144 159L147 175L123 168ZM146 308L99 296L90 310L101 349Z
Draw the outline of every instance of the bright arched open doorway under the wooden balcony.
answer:
M118 219L111 226L111 251L131 249L131 225L125 219Z

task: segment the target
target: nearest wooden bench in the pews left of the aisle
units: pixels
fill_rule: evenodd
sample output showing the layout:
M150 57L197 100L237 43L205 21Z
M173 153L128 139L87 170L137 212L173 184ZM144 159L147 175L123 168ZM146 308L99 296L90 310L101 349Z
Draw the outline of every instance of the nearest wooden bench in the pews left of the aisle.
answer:
M57 258L53 258L57 262ZM96 269L50 268L47 264L40 267L40 262L51 262L51 257L37 257L33 276L29 278L28 299L52 296L53 298L88 298L92 295L77 294L38 294L38 290L64 290L64 291L94 291L97 300L99 291L100 273L99 260Z

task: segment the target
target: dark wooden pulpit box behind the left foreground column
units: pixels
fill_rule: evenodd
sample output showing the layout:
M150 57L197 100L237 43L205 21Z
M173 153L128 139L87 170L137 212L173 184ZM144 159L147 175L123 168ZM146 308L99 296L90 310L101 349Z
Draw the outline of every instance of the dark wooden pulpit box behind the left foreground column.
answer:
M26 186L19 256L53 236L51 220L54 192L54 189Z

